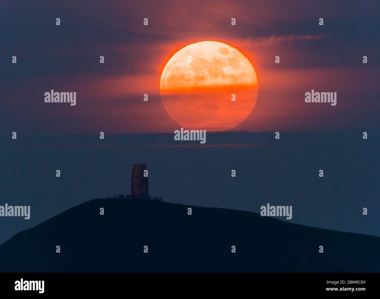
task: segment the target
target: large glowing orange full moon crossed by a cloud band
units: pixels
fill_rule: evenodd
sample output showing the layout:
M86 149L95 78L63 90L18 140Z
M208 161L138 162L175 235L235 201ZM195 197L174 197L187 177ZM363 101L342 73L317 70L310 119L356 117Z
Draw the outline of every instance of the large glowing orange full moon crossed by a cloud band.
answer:
M256 104L255 69L239 50L216 41L180 49L162 71L160 94L180 126L225 131L242 123Z

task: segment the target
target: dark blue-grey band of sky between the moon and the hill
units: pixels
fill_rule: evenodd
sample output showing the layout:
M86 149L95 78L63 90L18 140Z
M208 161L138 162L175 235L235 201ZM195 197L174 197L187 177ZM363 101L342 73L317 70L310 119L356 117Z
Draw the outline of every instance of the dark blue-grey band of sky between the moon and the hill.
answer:
M0 243L85 201L129 194L135 163L147 164L149 193L166 202L252 212L293 205L288 222L380 236L380 131L366 140L360 131L280 132L279 140L274 132L218 132L207 134L208 147L173 135L2 137L0 205L31 205L31 218L0 217L8 227Z

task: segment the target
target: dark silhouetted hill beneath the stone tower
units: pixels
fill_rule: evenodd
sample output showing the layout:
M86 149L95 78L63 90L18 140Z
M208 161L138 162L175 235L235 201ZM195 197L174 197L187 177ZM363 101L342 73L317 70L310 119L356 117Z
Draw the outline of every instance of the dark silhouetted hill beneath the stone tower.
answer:
M253 212L106 198L0 245L0 272L380 272L379 253L375 236Z

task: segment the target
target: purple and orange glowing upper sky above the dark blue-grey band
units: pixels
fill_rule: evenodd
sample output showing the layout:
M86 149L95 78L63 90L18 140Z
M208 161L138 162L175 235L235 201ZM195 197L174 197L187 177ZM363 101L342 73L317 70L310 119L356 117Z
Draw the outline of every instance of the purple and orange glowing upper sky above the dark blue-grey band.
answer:
M161 73L179 49L207 40L237 48L257 73L256 105L233 131L370 130L380 124L376 1L23 1L1 8L4 134L174 132L180 126L163 107ZM46 104L51 89L75 91L76 106ZM312 89L337 92L337 105L305 103Z

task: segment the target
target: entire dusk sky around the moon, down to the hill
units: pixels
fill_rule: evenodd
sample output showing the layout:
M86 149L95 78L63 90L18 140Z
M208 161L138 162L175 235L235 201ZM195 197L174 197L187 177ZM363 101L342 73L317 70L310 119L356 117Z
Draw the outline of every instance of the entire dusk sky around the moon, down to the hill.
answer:
M31 205L32 213L0 217L0 244L85 201L130 193L131 164L139 163L149 169L150 194L164 201L252 212L293 205L290 222L380 236L379 6L0 3L0 205ZM228 132L207 133L204 145L174 142L180 125L160 96L166 63L199 41L238 49L258 80L252 113ZM76 105L45 103L52 89L76 92ZM311 90L336 92L337 105L305 103Z

